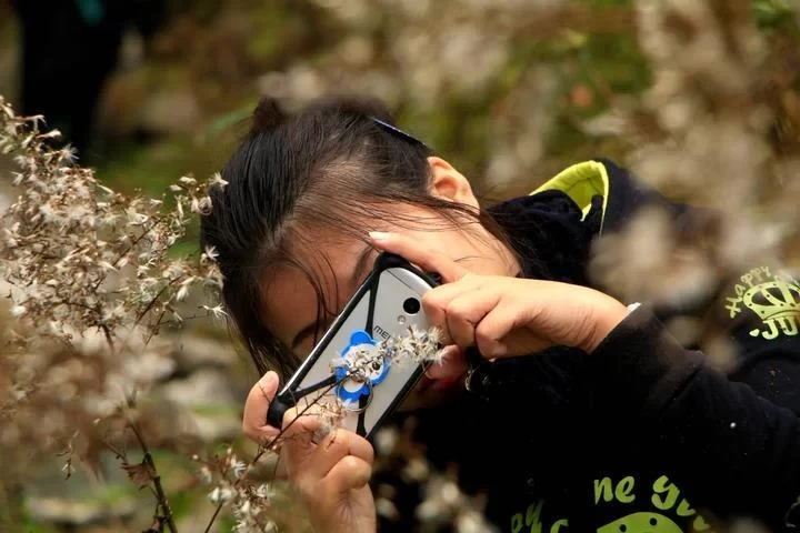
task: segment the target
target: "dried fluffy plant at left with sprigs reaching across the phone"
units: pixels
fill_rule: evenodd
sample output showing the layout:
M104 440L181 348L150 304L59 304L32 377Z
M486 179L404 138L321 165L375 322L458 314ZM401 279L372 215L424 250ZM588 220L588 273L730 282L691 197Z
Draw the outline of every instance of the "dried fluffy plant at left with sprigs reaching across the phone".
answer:
M169 252L184 235L190 213L202 217L212 209L207 187L226 182L214 175L201 185L184 177L162 199L127 198L74 164L69 149L50 149L47 141L58 132L40 132L39 124L39 118L17 117L0 99L0 150L14 157L21 187L3 215L0 242L8 313L16 319L3 328L0 451L20 459L63 453L67 476L73 459L91 463L111 451L130 480L154 495L149 531L177 531L149 447L169 445L170 435L148 431L146 399L173 365L158 333L190 318L224 315L220 305L196 305L191 316L180 309L191 291L221 289L216 252L206 250L197 261ZM363 379L378 359L438 361L439 348L437 330L410 329L377 351L356 354L346 379ZM320 416L329 432L342 412L341 404L326 400L301 414ZM261 443L248 461L231 447L221 455L193 454L217 506L209 531L226 506L240 532L269 532L291 522L282 511L291 509L287 490L277 491L269 475L252 475L281 439L282 433Z

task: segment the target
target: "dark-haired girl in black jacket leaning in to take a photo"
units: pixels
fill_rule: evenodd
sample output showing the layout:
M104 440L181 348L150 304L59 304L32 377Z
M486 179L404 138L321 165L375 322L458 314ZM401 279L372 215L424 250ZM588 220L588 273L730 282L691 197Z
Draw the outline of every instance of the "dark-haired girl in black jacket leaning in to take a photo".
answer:
M201 245L219 254L226 305L263 374L246 433L278 432L264 422L279 386L268 370L286 379L390 251L444 281L423 299L449 346L410 399L417 436L434 463L459 466L467 490L488 494L501 531L702 532L711 516L789 527L800 495L797 282L757 265L731 294L720 288L747 384L734 383L646 302L587 279L596 237L646 205L680 223L690 209L603 161L484 209L463 175L391 122L373 102L284 115L262 101L222 172L228 184L211 193ZM468 369L468 346L486 361ZM314 526L376 531L370 443L338 430L314 444L317 424L300 418L282 449ZM394 525L411 530L396 503Z

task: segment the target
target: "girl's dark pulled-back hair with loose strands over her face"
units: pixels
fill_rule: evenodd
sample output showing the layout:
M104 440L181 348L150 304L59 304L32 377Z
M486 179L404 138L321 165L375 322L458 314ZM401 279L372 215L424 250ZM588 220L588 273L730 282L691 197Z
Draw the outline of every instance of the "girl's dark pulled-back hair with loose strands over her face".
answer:
M228 184L210 191L213 208L201 219L200 244L217 250L223 302L261 373L272 368L287 375L297 365L289 348L261 320L262 289L277 265L293 265L309 276L318 316L334 312L327 308L311 269L288 247L313 247L309 225L364 240L358 220L382 215L393 223L413 223L380 209L406 202L433 209L453 224L463 224L458 213L466 214L502 239L484 211L429 192L428 157L433 152L394 130L393 123L374 100L320 100L289 115L277 101L264 99L222 170Z

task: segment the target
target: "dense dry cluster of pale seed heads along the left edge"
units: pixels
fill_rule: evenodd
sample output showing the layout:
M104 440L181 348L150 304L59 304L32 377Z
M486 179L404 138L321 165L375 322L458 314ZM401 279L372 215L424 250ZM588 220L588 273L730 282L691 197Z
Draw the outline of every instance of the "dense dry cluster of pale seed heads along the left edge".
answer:
M151 340L184 320L177 306L188 291L221 285L208 254L194 263L168 254L184 233L187 211L200 212L207 200L191 178L173 185L174 208L126 198L73 164L69 149L50 150L44 141L58 132L37 125L0 99L0 150L14 154L21 189L3 215L0 272L19 322L9 346L24 354L6 358L14 368L3 374L13 376L18 399L44 394L89 421L102 419L171 370ZM219 310L200 314L209 312ZM34 421L32 436L59 428L69 434L73 425ZM14 428L4 440L22 438Z

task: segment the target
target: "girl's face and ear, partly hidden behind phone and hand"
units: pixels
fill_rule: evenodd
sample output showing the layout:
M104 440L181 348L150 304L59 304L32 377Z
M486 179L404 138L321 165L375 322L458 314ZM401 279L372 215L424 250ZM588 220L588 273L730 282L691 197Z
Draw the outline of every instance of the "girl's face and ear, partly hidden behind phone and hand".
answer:
M453 202L478 207L469 182L449 163L430 158L432 184L431 192ZM263 322L286 345L290 346L298 360L302 360L313 348L358 286L368 275L378 255L368 242L367 232L371 229L391 231L411 237L438 253L458 260L472 272L479 274L512 275L516 263L512 254L479 224L464 221L464 225L453 228L444 217L427 209L409 204L396 204L389 209L389 217L380 221L363 221L363 239L337 234L330 230L308 229L316 243L313 250L297 250L300 261L309 268L321 283L326 303L331 311L318 322L317 291L307 274L296 268L287 266L272 272L264 284L261 299ZM391 217L402 220L419 220L414 228L392 227ZM403 224L406 225L406 224ZM323 258L323 259L322 259ZM417 398L411 404L428 403L424 396L439 395L443 388L452 383L423 380L418 388ZM413 406L412 405L412 406Z

